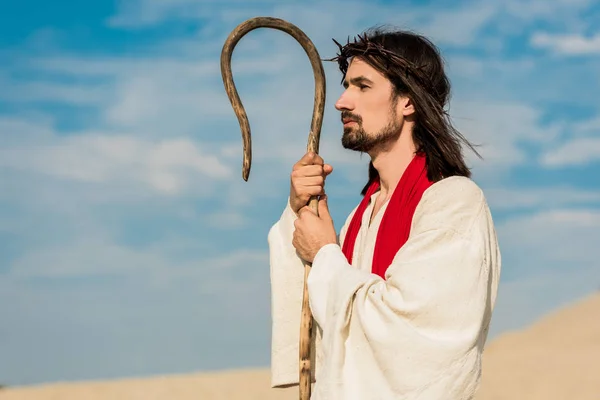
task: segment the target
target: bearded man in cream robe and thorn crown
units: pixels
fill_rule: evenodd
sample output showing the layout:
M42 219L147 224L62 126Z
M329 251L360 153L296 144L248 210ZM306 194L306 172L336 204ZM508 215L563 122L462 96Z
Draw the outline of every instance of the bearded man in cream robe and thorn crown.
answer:
M339 46L342 144L369 154L369 180L338 238L324 191L332 166L306 154L293 167L269 232L272 385L298 383L304 259L318 329L313 399L472 399L500 252L463 160L469 143L444 111L441 57L402 31Z

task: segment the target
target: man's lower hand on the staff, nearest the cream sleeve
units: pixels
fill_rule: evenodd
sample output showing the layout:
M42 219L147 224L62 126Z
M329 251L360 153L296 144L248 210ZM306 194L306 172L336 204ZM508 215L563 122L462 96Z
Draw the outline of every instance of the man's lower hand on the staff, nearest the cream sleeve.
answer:
M318 210L317 216L310 207L304 206L299 210L298 219L294 222L296 230L292 244L300 257L311 263L321 247L337 243L335 226L327 206L327 196L319 199Z

